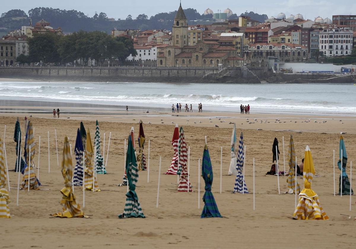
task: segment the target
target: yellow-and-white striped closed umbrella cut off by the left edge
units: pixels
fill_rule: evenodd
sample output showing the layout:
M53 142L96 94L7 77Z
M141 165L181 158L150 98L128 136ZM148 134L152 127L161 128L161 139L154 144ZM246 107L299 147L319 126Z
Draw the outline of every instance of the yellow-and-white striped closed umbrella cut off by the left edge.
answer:
M0 138L0 218L10 218L9 192L6 189L7 172L4 164L4 143Z

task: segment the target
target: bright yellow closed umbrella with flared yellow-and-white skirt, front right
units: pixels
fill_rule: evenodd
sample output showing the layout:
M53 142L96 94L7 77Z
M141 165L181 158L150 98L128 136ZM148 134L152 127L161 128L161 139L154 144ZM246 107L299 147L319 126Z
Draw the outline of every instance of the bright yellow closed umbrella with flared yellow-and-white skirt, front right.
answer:
M293 213L293 219L329 219L320 205L318 195L312 190L314 174L312 152L307 145L304 153L304 189L299 194L299 202Z

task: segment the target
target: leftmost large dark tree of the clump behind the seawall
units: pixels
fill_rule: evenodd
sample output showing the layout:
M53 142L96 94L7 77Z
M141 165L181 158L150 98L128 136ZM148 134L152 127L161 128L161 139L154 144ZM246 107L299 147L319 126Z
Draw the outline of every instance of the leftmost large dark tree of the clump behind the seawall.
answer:
M30 62L59 63L59 36L53 33L38 33L28 39Z

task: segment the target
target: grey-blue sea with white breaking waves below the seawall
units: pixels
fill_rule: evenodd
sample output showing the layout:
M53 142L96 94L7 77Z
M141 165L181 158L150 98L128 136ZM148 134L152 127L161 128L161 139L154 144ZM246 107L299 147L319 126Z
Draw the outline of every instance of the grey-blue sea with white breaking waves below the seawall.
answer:
M206 111L356 114L350 84L199 84L0 81L0 99L170 108L199 103Z

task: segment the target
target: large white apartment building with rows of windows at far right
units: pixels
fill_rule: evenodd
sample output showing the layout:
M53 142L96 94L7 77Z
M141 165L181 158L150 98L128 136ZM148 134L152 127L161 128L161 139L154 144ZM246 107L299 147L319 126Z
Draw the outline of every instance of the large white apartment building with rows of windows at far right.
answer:
M351 30L341 28L327 28L319 33L319 49L326 57L351 54L352 37Z

